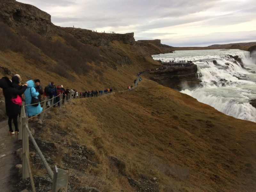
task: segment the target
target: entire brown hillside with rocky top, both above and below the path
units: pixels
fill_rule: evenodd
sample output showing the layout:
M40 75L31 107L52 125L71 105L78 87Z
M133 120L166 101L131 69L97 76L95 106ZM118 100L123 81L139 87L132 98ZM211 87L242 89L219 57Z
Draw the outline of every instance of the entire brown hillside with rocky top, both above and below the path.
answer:
M137 72L159 66L150 54L172 48L136 43L133 33L57 27L15 0L0 8L0 75L20 74L23 83L124 90ZM255 128L145 78L135 90L54 109L35 136L47 162L67 170L72 191L253 192ZM38 156L30 158L33 174L45 176Z

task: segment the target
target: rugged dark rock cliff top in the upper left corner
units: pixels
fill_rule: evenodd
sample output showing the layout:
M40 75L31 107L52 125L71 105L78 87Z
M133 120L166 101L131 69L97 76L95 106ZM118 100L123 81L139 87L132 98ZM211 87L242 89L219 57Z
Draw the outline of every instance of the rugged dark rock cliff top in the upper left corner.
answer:
M54 25L50 14L15 0L0 1L0 21L10 27L27 27L43 36L53 33Z

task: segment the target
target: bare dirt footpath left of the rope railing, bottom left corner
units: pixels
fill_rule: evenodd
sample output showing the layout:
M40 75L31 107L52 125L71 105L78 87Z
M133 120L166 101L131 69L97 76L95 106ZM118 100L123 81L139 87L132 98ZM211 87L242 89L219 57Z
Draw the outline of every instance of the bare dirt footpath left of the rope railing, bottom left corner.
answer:
M19 121L19 118L18 118ZM20 164L20 159L14 153L21 148L18 142L18 135L9 135L7 120L0 122L0 191L11 192L15 180L18 179L16 164Z

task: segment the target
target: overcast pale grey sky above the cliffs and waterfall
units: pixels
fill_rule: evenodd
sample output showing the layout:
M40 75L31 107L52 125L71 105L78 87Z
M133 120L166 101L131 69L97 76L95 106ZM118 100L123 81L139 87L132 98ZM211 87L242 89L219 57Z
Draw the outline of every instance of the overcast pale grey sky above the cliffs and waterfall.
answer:
M171 46L256 41L256 0L18 0L52 16L52 23Z

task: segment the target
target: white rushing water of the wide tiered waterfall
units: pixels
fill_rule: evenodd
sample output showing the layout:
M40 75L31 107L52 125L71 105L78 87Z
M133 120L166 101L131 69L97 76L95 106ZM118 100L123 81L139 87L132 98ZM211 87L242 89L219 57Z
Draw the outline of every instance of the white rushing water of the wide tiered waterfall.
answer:
M239 56L244 67L228 55ZM197 77L202 81L194 90L183 90L198 101L239 119L256 122L256 108L249 103L256 99L256 62L250 52L233 50L189 50L152 55L155 60L192 60ZM213 60L217 64L213 63Z

